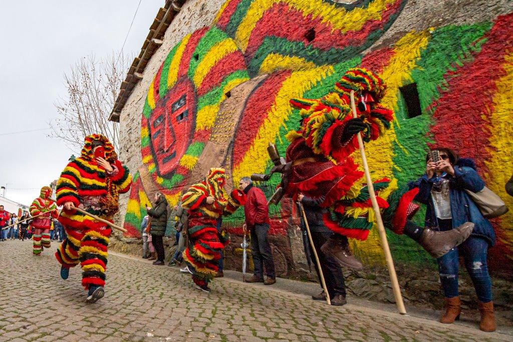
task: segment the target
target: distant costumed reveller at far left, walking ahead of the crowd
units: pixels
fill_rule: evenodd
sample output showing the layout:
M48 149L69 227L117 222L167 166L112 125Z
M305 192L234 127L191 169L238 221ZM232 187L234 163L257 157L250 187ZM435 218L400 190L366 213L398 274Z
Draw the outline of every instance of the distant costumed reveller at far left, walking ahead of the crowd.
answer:
M43 248L50 248L51 217L57 218L59 215L51 195L52 189L50 187L41 188L40 196L34 199L29 207L32 216L39 215L32 220L32 228L34 229L32 253L34 255L40 255Z

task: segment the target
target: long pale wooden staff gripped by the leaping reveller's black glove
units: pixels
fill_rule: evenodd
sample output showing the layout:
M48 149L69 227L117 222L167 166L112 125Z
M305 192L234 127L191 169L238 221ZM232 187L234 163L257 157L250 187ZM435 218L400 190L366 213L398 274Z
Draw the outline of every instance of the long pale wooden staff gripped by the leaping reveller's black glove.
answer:
M351 109L353 113L353 117L357 117L356 105L354 104L354 90L351 90ZM372 202L372 209L374 210L374 215L376 215L376 224L378 225L378 232L380 233L381 245L383 246L383 251L385 253L386 265L388 268L388 274L390 275L390 280L392 282L392 290L393 296L396 298L397 309L399 313L405 315L406 309L403 303L403 297L401 295L401 289L399 288L399 281L397 281L396 269L393 266L392 254L390 253L390 247L388 247L388 241L386 238L385 227L383 226L383 220L381 219L380 207L378 206L378 201L376 200L376 194L374 193L374 187L372 185L372 179L370 179L369 166L367 165L367 158L365 156L365 148L363 145L362 133L358 133L358 145L360 147L360 154L362 156L362 164L365 171L365 179L367 181L367 187L369 189L370 200Z

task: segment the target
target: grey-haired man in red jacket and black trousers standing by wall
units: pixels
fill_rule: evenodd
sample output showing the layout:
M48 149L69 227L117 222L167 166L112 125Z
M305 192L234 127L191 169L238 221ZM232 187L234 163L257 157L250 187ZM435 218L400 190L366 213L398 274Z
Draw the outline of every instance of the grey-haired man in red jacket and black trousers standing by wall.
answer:
M241 179L239 189L244 191L247 196L246 204L244 205L246 223L243 229L244 231L249 230L251 236L251 256L253 257L254 264L253 276L246 279L246 283L274 284L276 283L274 259L271 246L269 246L267 240L270 224L267 199L261 189L253 186L253 182L249 177ZM263 266L265 266L267 275L265 280Z

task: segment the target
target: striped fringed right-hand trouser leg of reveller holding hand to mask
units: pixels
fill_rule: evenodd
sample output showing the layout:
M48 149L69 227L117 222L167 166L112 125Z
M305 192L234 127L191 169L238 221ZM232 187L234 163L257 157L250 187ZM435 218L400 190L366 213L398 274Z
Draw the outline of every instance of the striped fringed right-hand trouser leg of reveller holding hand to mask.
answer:
M105 286L107 268L107 246L112 232L109 228L88 230L80 242L80 265L82 266L82 286Z

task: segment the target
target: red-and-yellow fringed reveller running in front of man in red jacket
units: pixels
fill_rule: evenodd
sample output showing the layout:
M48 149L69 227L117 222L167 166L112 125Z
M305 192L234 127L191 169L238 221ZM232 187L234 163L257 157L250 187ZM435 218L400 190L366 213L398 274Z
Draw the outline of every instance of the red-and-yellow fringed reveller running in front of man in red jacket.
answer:
M210 292L208 283L219 270L221 251L230 243L228 233L216 229L216 220L246 202L243 191L234 189L228 194L225 183L225 170L211 168L201 183L192 185L182 196L182 207L189 212L189 247L183 258L196 288L204 292Z

